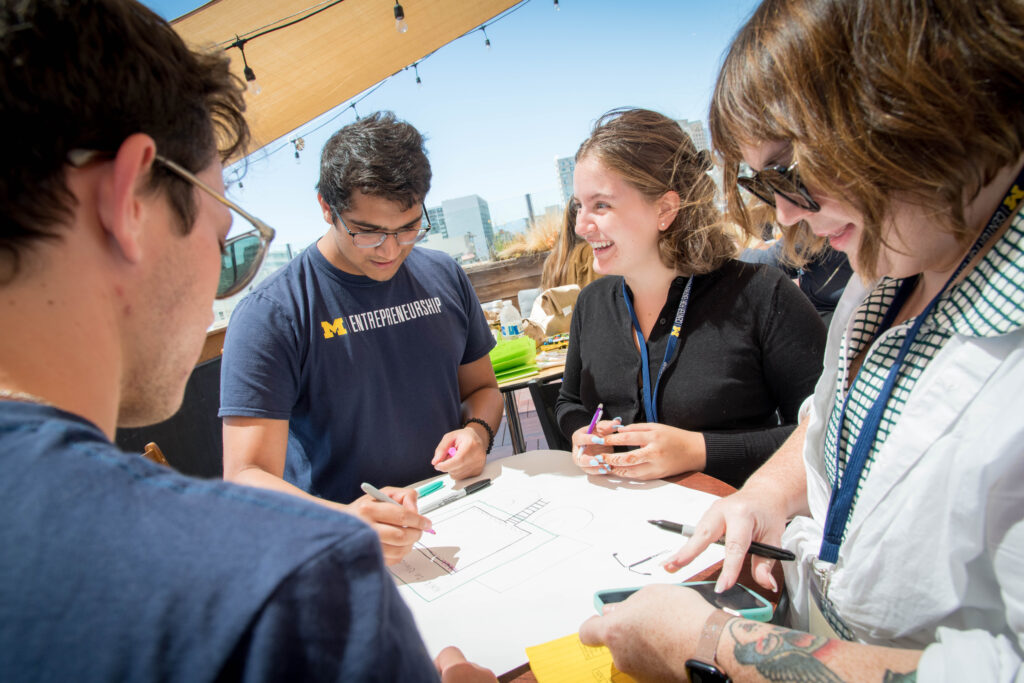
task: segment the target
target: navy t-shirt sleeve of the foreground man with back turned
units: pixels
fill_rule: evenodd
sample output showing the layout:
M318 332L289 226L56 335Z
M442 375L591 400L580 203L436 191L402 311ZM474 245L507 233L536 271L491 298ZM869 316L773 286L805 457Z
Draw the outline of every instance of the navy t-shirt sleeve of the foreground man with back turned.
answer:
M413 615L384 569L376 537L359 536L360 543L332 546L282 583L219 678L438 680Z

